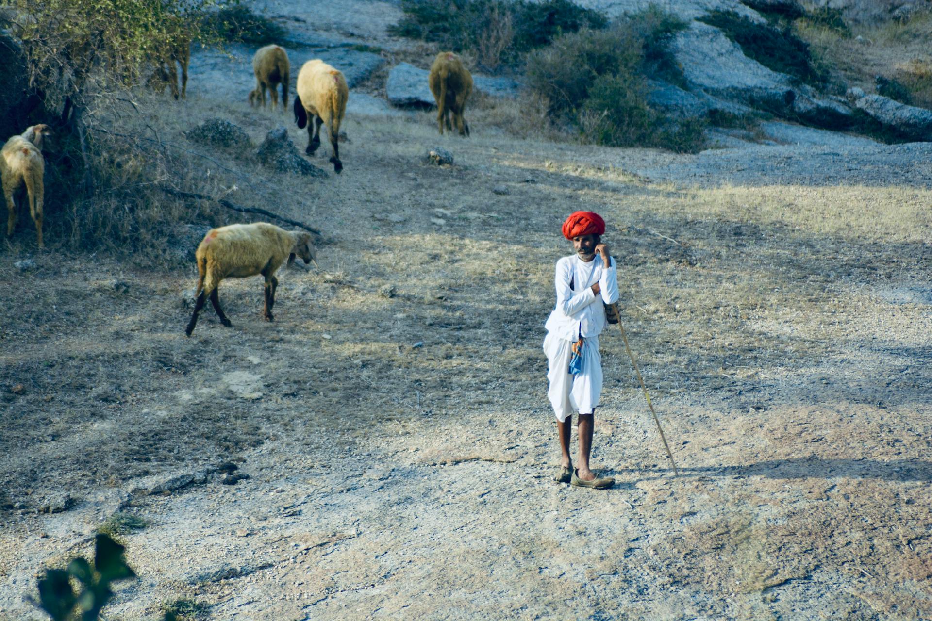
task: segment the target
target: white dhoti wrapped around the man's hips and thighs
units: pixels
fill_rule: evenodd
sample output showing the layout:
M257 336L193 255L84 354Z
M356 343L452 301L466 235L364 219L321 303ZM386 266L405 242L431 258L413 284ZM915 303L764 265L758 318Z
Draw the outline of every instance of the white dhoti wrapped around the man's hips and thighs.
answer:
M547 355L548 363L547 379L550 381L547 397L554 406L556 420L561 423L573 410L591 414L602 394L602 357L598 354L598 337L589 336L583 340L583 372L577 375L569 372L574 343L552 332L547 332L543 340L543 353Z

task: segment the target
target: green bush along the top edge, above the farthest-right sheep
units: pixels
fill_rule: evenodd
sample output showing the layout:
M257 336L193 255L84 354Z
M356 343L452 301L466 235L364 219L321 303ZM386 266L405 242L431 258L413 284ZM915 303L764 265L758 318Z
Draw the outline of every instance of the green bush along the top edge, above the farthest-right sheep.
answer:
M402 10L404 17L389 27L390 34L469 52L487 69L513 65L561 34L609 23L570 0L402 0Z

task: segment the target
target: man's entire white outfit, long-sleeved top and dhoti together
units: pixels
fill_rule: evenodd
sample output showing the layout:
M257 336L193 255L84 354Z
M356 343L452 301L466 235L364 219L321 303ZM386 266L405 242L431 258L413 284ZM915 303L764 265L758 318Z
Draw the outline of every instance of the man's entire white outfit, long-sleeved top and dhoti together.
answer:
M598 283L600 292L593 293ZM570 286L572 285L572 286ZM602 394L602 358L598 353L598 335L605 327L605 306L618 301L618 277L615 262L609 267L602 257L586 263L578 256L556 262L556 305L547 318L547 336L543 351L547 355L547 397L554 407L556 420L567 420L573 410L591 414ZM583 372L569 373L572 344L583 337Z

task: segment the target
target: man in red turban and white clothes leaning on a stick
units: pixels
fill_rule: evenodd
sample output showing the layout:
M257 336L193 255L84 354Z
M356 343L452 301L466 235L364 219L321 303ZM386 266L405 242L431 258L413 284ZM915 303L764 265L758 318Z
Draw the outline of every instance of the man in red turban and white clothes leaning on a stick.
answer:
M547 397L554 406L563 452L556 480L596 490L615 483L589 469L595 412L602 393L598 335L608 323L605 305L618 300L618 276L609 247L601 241L604 234L605 221L593 211L575 211L563 223L563 236L572 243L573 254L556 262L556 305L547 318L543 340L550 383ZM579 413L576 468L569 457L573 410Z

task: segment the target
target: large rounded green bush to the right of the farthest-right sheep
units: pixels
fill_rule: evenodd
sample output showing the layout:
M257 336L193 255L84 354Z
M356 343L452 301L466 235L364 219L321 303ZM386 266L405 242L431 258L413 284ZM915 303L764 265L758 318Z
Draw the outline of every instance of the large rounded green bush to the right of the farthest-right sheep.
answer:
M528 56L528 88L546 98L553 121L578 128L587 142L698 151L706 121L672 121L647 99L648 77L682 81L667 47L684 27L649 7L606 30L564 34Z

